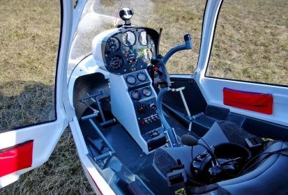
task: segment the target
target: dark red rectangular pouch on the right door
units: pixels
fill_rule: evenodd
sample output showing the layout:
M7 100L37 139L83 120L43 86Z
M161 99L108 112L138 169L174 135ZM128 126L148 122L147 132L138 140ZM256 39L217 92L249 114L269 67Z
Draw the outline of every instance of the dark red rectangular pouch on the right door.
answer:
M227 106L263 114L273 113L273 96L267 93L253 93L223 88L223 103Z

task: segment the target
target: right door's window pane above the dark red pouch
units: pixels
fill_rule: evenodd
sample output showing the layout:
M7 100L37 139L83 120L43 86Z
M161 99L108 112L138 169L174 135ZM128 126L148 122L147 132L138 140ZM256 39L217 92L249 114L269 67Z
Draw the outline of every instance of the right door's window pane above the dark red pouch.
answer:
M206 76L288 85L287 10L287 0L225 0Z

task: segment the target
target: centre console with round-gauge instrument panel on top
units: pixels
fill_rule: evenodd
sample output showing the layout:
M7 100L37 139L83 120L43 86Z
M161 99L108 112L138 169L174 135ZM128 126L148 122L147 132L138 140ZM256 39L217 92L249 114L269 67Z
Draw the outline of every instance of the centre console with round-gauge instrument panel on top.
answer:
M112 114L146 154L166 143L146 71L158 39L153 29L130 26L100 33L92 42L93 59L110 72Z

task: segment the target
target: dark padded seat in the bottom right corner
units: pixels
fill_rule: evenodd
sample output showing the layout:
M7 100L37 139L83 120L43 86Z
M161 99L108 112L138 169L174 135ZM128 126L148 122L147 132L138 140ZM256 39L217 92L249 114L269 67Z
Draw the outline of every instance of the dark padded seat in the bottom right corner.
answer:
M269 145L269 144L268 144ZM282 141L272 142L270 146L266 146L263 153L274 152L283 148L287 148L288 143ZM282 152L288 155L288 151ZM259 157L261 161L263 157ZM219 195L270 195L270 194L288 194L288 157L284 155L271 155L264 159L252 171L245 173L243 176L216 182L203 187L191 187L189 194L211 194ZM213 193L212 193L213 192Z

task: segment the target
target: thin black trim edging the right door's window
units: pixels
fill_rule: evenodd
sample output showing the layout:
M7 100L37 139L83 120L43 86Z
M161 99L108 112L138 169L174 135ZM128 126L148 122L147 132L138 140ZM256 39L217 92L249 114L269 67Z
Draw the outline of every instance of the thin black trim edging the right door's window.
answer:
M227 79L227 78L219 78L219 77L209 77L209 76L206 75L207 74L207 70L208 70L208 66L209 66L209 63L210 63L211 53L212 53L212 50L213 50L213 42L214 42L214 38L215 38L215 32L216 32L216 29L217 29L218 17L220 15L220 11L221 11L221 8L222 8L222 3L223 3L223 0L221 1L220 7L219 7L219 11L217 13L216 21L215 21L215 26L214 26L214 31L213 31L213 38L212 38L212 42L211 42L211 49L210 49L210 52L209 52L209 58L208 58L208 62L207 62L207 66L206 66L204 77L213 78L213 79L227 80L227 81L241 81L241 82L252 83L252 84L263 84L263 85L268 85L268 86L281 86L281 87L288 88L288 85L269 84L269 83L262 83L262 82L257 82L257 81L245 81L245 80ZM206 4L206 6L207 6L207 4ZM205 15L205 12L206 12L206 8L205 8L205 11L204 11L204 15ZM202 23L202 33L203 33L203 23ZM202 40L202 35L201 35L201 40ZM198 61L199 61L199 56L198 56Z

